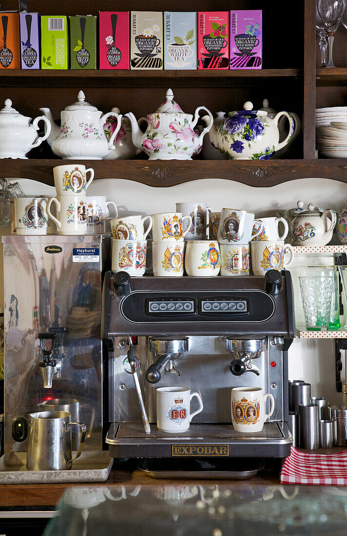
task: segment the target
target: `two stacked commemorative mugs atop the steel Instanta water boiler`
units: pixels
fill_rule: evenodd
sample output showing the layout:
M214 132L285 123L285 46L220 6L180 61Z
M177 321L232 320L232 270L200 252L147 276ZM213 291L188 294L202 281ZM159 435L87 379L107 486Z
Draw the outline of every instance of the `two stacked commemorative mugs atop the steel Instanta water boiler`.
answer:
M87 181L87 173L90 178ZM53 168L57 197L51 197L47 214L57 226L60 235L84 235L87 230L86 190L94 178L94 170L82 164L67 164ZM51 204L56 206L56 217L51 213Z

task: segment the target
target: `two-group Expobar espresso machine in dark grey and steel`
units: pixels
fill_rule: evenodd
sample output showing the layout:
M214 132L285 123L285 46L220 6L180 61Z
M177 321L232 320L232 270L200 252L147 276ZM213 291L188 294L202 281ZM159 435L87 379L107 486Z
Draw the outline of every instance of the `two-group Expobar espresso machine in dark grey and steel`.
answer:
M187 457L290 454L287 350L295 331L290 272L271 270L264 278L130 278L107 272L103 301L110 456L159 459L163 466ZM203 411L185 433L157 429L156 389L166 386L188 387L202 397ZM274 396L274 413L261 432L242 434L232 427L231 389L240 386Z

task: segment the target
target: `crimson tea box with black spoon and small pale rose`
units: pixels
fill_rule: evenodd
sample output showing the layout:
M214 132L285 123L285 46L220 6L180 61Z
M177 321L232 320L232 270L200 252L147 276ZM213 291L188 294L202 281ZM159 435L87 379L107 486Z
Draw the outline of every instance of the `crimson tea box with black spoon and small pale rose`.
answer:
M99 11L100 69L129 69L129 11Z

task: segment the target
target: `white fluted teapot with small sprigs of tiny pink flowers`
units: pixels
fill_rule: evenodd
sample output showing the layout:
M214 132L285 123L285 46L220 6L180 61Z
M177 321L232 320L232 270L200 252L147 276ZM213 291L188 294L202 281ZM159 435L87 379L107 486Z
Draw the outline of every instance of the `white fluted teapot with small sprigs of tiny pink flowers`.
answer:
M61 111L60 128L55 124L50 109L40 108L51 125L47 142L58 157L67 160L101 160L115 148L113 140L121 128L122 116L117 116L117 126L108 139L104 132L104 124L109 116L114 116L114 113L110 111L102 115L98 108L84 100L85 95L80 91L77 102Z

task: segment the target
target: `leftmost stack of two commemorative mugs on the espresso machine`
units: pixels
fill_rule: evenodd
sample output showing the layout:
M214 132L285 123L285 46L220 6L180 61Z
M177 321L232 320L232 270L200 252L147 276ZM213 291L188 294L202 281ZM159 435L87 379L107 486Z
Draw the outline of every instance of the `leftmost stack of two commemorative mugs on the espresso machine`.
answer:
M144 230L144 222L149 226ZM146 271L147 234L152 228L152 216L127 216L110 220L112 228L112 271L128 272L141 277Z

